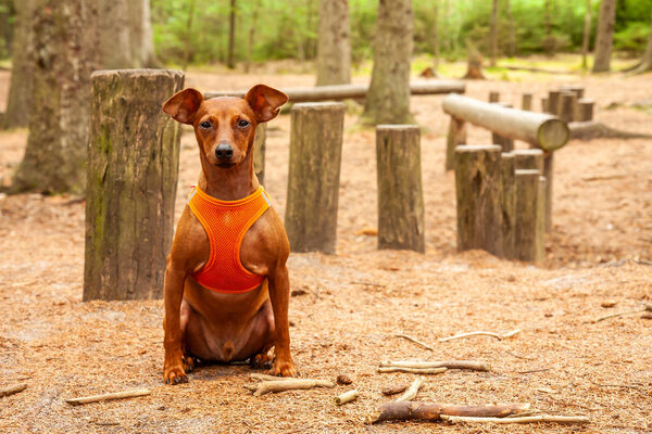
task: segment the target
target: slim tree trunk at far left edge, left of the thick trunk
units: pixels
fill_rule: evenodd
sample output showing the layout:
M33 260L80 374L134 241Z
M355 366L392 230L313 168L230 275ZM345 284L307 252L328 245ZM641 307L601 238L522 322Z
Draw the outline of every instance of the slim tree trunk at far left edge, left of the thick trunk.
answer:
M2 128L22 128L29 124L34 73L34 14L36 0L15 1L16 22L12 47L12 73Z

